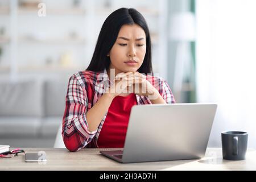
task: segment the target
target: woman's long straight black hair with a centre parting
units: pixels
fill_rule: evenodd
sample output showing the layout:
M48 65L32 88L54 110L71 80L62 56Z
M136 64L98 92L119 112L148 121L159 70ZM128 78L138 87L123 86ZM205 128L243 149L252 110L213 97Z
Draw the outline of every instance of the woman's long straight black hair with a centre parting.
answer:
M117 39L119 30L124 24L138 24L138 26L143 28L146 34L146 55L141 67L138 69L138 72L144 74L153 73L151 63L150 32L148 30L146 20L139 11L124 7L115 10L103 23L92 60L90 61L86 71L98 72L103 71L105 68L109 68L110 57L107 55Z

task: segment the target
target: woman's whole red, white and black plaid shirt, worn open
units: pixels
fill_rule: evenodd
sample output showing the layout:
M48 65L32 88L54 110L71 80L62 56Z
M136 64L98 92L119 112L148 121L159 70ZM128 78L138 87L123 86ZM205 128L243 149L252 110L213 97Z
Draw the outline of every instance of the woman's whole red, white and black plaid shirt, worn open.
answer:
M167 104L175 103L171 89L163 78L147 75L146 79ZM102 118L98 129L93 132L88 130L86 112L104 94L106 84L111 84L106 69L102 72L81 71L69 78L62 130L64 144L69 151L98 147L97 140L108 112ZM151 104L146 96L136 95L136 98L138 105Z

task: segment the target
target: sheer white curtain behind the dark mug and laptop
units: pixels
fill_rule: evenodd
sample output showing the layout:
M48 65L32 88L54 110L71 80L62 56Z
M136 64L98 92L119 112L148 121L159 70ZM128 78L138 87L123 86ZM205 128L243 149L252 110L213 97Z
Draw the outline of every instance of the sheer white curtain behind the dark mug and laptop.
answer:
M197 101L218 104L209 147L221 131L249 133L256 148L256 1L196 1Z

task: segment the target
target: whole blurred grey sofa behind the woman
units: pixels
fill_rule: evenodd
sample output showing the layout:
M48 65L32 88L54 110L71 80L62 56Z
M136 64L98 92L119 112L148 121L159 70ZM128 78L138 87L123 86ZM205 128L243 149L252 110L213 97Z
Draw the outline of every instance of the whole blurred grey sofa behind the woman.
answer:
M67 84L67 80L0 81L0 144L53 147Z

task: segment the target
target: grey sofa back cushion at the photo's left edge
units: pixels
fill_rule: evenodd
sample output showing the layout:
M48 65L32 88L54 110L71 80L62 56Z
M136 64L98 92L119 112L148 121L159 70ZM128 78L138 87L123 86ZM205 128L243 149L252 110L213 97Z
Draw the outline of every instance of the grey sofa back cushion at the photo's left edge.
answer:
M1 117L41 117L44 113L42 94L42 83L39 81L1 81Z

